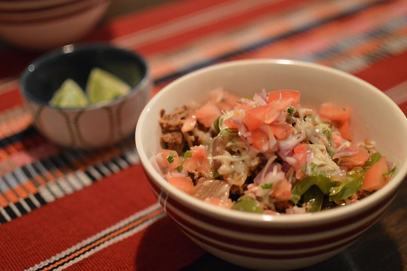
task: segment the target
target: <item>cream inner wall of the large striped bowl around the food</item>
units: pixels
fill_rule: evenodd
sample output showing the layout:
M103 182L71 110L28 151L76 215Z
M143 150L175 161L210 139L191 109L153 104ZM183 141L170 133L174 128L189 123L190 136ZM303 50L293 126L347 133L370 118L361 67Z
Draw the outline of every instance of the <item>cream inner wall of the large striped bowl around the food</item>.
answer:
M354 76L318 64L270 59L231 61L193 72L166 86L146 105L137 124L136 145L146 171L162 189L177 194L190 204L197 203L194 198L190 199L171 187L148 159L161 148L160 110L170 112L192 101L203 102L208 99L209 91L216 87L223 87L240 97L253 97L262 89L294 89L301 92L303 107L317 109L322 102L328 101L351 107L354 140L373 140L376 149L397 164L392 181L367 197L368 200L375 200L375 197L395 189L407 172L407 120L398 106L380 90ZM214 211L210 208L207 210Z

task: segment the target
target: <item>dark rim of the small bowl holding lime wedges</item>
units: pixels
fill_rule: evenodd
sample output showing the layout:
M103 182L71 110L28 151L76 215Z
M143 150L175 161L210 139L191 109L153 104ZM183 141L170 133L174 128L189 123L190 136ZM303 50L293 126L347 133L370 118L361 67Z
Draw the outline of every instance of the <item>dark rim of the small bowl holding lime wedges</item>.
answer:
M27 79L27 77L29 77L31 75L31 73L33 71L32 67L36 66L36 65L41 65L42 63L47 63L50 61L53 61L52 59L56 56L61 56L61 55L69 55L73 52L86 52L89 50L103 50L103 51L116 51L116 52L120 52L122 54L127 54L129 56L131 56L132 58L136 59L138 62L138 65L141 67L141 71L143 72L141 74L141 80L140 82L137 83L137 85L135 85L134 87L131 88L131 90L129 91L129 93L114 98L110 101L106 101L106 102L101 102L101 103L96 103L96 104L90 104L87 105L85 107L57 107L57 106L53 106L50 105L48 102L42 101L40 99L37 99L35 96L31 95L28 91L27 91L27 87L25 84L25 80ZM35 69L35 68L34 68ZM53 49L51 51L48 51L40 56L38 56L36 59L34 59L33 61L31 61L23 70L23 72L20 75L20 79L19 79L19 91L21 93L21 95L26 99L29 100L30 102L33 102L35 104L38 104L40 106L43 107L47 107L47 108L53 108L55 110L66 110L66 111L83 111L83 110L93 110L93 109L99 109L99 108L106 108L109 106L112 106L114 104L118 104L124 100L126 100L129 96L133 95L136 92L141 91L142 89L144 89L144 87L146 85L149 84L149 65L147 60L138 52L135 51L130 51L127 50L125 48L122 47L117 47L114 46L112 44L109 43L98 43L98 42L89 42L89 43L72 43L72 44L67 44L64 45L62 47Z

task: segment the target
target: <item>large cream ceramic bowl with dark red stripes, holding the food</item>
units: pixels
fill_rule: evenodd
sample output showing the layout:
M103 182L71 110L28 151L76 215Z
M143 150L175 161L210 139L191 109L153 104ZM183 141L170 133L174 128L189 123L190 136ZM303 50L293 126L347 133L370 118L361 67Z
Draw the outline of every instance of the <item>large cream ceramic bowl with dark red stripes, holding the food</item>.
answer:
M159 152L159 112L208 99L223 87L241 97L295 89L301 104L350 106L357 141L372 139L397 164L392 180L356 204L302 215L270 216L206 204L169 184L150 164ZM377 222L407 173L407 120L397 105L372 85L329 67L289 60L238 60L192 72L158 92L142 111L135 141L141 164L162 208L195 243L231 263L254 269L295 269L344 250Z

